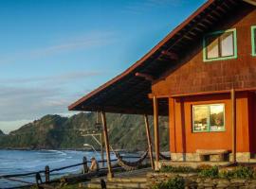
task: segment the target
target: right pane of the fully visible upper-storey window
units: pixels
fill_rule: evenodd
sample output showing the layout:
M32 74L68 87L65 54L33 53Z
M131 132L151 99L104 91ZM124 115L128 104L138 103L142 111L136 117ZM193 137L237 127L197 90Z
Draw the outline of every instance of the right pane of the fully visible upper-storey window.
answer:
M234 55L233 32L224 33L221 39L221 56L229 57Z

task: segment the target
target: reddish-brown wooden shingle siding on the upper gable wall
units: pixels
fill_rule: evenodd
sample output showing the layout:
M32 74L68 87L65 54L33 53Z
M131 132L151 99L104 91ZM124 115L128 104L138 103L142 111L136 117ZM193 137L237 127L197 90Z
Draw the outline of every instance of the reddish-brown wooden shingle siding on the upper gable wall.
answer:
M152 86L156 95L187 94L256 87L256 57L251 56L251 26L256 25L256 9L241 8L236 15L211 31L236 28L238 58L203 61L202 41L184 51L184 59Z

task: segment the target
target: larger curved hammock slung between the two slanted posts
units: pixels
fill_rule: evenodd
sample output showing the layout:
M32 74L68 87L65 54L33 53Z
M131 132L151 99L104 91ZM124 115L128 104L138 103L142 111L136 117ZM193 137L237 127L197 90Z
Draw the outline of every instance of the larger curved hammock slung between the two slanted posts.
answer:
M132 171L137 169L137 166L140 165L148 156L148 151L145 151L142 156L136 161L136 162L128 162L122 159L122 157L120 156L120 154L116 151L114 151L115 155L118 158L118 164L123 167L126 171Z

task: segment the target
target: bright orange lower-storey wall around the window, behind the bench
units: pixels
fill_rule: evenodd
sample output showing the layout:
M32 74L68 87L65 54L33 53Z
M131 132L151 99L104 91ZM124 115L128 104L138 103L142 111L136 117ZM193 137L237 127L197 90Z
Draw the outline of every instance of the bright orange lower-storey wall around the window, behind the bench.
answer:
M249 152L248 102L250 94L238 93L237 151ZM192 132L192 105L225 104L225 131ZM196 149L231 150L231 100L230 94L197 95L169 98L170 150L174 153L192 153ZM256 119L256 118L255 118Z

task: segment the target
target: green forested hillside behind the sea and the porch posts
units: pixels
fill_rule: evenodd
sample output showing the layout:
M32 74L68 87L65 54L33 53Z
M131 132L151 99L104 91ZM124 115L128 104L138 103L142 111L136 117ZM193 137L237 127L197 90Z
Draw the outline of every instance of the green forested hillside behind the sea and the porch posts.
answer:
M153 123L152 117L149 117ZM81 129L94 130L96 114L79 113L69 118L60 115L46 115L8 135L0 134L0 148L82 148L92 144L100 148L90 136L83 137ZM168 122L160 117L160 141L162 150L168 150ZM110 144L113 148L145 150L147 144L143 117L140 115L107 114ZM152 124L151 130L153 131ZM0 132L1 133L1 132Z

